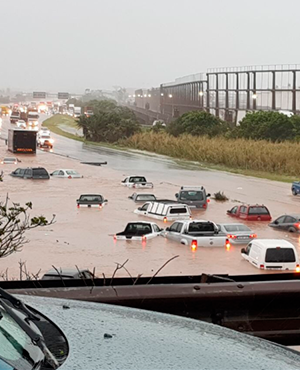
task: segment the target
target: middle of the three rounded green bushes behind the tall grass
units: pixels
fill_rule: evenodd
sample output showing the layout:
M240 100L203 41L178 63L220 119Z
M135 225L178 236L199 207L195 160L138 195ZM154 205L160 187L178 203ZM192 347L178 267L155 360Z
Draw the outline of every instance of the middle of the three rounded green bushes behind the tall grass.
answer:
M174 122L171 122L168 125L167 131L173 136L190 134L212 137L224 134L228 129L228 125L218 117L204 111L192 111L183 114Z

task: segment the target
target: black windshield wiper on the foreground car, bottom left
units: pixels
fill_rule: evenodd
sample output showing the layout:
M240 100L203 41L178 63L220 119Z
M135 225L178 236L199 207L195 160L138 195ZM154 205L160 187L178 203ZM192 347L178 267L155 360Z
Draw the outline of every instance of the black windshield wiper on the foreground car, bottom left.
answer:
M25 318L22 319L16 312L11 308L9 304L5 302L5 300L9 301L11 305L18 311L21 311L25 314ZM33 330L30 326L30 321L39 321L40 319L35 316L26 306L25 304L20 301L19 299L15 298L11 294L7 293L5 290L0 288L0 302L4 307L5 311L10 315L10 317L21 327L21 329L29 336L32 343L39 347L42 353L45 356L48 364L53 368L57 369L59 367L59 363L53 354L48 349L44 337L38 334L35 330ZM0 317L1 320L2 316Z

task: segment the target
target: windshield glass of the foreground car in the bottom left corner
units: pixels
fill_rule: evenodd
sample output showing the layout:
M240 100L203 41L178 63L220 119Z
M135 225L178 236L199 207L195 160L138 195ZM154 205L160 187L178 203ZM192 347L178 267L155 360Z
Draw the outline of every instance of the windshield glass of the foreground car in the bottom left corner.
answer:
M15 369L29 370L33 368L34 359L41 355L41 350L32 345L29 336L5 311L0 302L0 358Z

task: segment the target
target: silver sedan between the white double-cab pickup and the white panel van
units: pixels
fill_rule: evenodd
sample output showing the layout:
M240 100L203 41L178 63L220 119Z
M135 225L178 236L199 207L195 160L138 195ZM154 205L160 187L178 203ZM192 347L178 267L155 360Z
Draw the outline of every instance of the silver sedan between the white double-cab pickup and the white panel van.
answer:
M226 235L231 244L248 244L257 235L244 224L218 224L219 235Z

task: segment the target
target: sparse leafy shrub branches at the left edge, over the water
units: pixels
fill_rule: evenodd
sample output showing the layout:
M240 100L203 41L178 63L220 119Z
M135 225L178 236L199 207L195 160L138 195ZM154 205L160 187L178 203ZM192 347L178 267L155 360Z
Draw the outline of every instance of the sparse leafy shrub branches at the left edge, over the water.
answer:
M30 218L31 209L31 202L22 207L10 202L8 196L4 202L0 202L0 258L20 251L28 243L25 238L27 230L53 224L54 215L51 221L47 221L44 216Z

